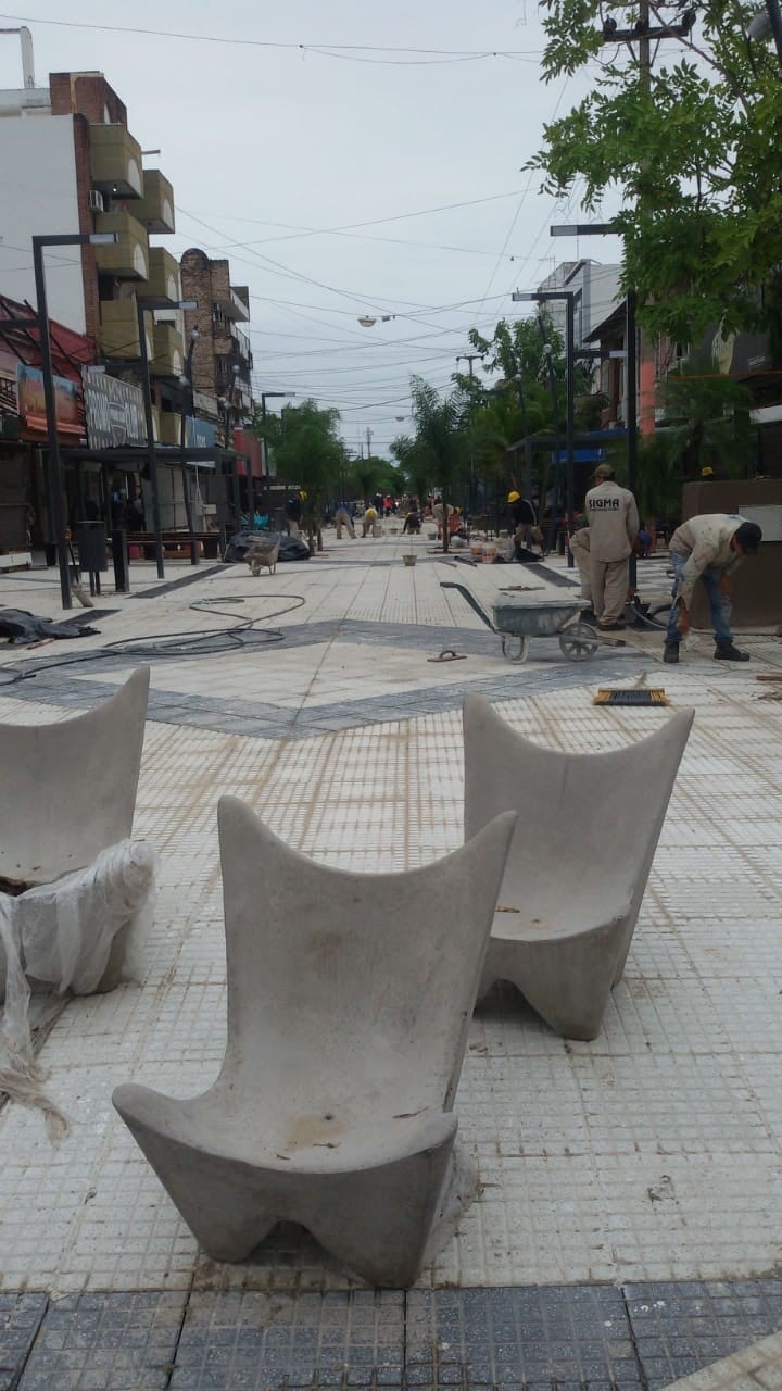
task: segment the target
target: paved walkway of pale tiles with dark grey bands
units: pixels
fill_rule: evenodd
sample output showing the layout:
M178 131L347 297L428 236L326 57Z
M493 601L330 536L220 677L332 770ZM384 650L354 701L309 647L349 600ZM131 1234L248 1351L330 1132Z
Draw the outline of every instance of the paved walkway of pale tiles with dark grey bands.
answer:
M0 1111L0 1391L657 1388L782 1328L782 702L756 682L782 644L751 637L733 668L704 640L664 668L657 636L586 664L533 640L512 666L441 581L487 604L516 584L561 600L572 576L429 552L330 540L256 580L168 566L188 583L164 588L134 566L132 595L97 601L100 636L0 648L0 719L35 723L107 696L154 637L136 833L163 857L143 982L68 1003L45 1045L68 1136L51 1150L35 1111ZM662 593L664 569L641 583ZM57 595L51 572L0 579L3 606L61 616ZM198 651L160 650L182 632ZM465 659L433 662L444 647ZM462 837L466 690L541 743L597 751L667 718L591 704L644 672L696 725L628 971L593 1043L509 989L476 1013L456 1106L483 1191L458 1235L406 1296L353 1287L295 1230L246 1266L209 1262L110 1096L131 1078L195 1095L220 1066L218 796L324 862L423 864Z

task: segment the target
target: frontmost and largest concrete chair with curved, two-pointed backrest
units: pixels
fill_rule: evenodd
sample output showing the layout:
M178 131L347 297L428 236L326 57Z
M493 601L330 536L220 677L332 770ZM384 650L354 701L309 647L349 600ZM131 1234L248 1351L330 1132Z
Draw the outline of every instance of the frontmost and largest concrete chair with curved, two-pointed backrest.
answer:
M513 828L408 874L348 874L218 807L228 1045L192 1100L114 1106L203 1249L239 1262L295 1221L405 1287L448 1200L452 1113Z

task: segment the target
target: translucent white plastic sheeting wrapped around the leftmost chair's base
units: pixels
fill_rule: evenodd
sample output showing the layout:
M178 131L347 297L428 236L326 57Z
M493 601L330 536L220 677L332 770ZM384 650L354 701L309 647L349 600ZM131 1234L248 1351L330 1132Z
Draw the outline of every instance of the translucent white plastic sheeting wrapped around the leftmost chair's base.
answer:
M86 869L18 897L0 893L0 944L6 957L6 1004L0 1024L0 1091L39 1107L51 1143L68 1123L43 1091L29 1028L29 979L56 993L90 995L100 983L120 932L125 933L121 976L138 976L152 925L157 855L141 840L121 840Z

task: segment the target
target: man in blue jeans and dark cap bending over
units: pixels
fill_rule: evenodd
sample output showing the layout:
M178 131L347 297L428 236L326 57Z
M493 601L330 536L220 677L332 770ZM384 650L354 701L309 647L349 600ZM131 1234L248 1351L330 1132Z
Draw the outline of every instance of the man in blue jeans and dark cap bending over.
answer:
M694 587L700 580L708 595L714 623L715 659L749 662L750 654L733 647L728 576L746 555L757 555L761 541L763 531L756 522L744 522L740 516L728 516L722 512L690 517L673 531L671 537L673 604L668 615L664 661L679 661L679 643L690 632L690 606Z

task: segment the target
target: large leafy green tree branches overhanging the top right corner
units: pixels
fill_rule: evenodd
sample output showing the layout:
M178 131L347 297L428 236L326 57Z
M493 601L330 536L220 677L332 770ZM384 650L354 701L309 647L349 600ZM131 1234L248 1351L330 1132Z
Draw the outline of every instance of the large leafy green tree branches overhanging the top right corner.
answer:
M690 35L664 39L650 70L632 46L619 60L626 49L604 36L601 0L545 8L545 78L590 71L589 96L544 127L530 161L545 191L583 178L590 210L619 195L623 285L637 292L647 331L692 344L721 321L724 331L767 330L779 349L782 82L774 50L747 39L757 0L704 0ZM637 7L611 7L619 29L637 18ZM660 0L650 19L671 22Z

